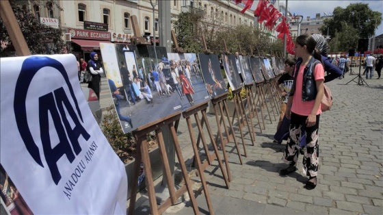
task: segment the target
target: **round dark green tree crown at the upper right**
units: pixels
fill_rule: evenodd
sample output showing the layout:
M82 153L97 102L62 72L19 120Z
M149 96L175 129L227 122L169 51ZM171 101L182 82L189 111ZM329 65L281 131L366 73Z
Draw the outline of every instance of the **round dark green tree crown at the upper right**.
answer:
M346 51L356 48L358 39L373 36L375 29L382 23L382 12L373 11L368 3L351 3L346 8L334 8L333 17L326 18L321 33L327 32L331 51Z

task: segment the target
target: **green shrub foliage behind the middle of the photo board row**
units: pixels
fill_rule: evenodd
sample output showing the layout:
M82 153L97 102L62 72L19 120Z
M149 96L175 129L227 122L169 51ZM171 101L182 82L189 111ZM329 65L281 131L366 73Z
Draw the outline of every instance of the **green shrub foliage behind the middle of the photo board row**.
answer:
M282 42L269 42L269 36L248 23L228 26L223 22L222 14L198 16L192 12L181 12L174 22L179 46L187 52L203 52L202 35L207 48L213 53L241 51L244 55L273 53L282 51ZM259 52L258 52L259 51Z

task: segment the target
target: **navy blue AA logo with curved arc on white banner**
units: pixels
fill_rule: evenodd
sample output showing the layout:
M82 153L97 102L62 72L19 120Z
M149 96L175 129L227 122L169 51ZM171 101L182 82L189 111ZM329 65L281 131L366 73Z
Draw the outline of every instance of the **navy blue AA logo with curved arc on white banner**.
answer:
M63 155L66 155L68 161L72 163L76 155L79 155L81 152L79 137L83 136L85 140L89 140L90 135L81 125L83 116L81 115L75 92L73 92L73 88L70 85L68 74L62 63L48 57L34 56L27 58L23 62L20 75L16 81L16 88L14 90L14 115L16 117L18 131L31 157L33 157L36 163L44 167L38 144L36 144L28 126L31 122L27 120L26 104L28 90L36 87L31 86L32 79L39 71L47 72L46 69L42 70L42 68L51 68L51 70L55 69L60 72L66 86L68 86L70 92L69 97L75 103L75 107L73 107L63 87L57 88L38 98L38 121L41 138L41 142L38 142L38 144L42 146L45 161L48 164L52 179L57 185L62 178L57 167L57 161ZM51 118L51 121L49 121L49 118ZM68 121L69 118L71 122ZM49 131L52 127L57 132L58 143L51 142ZM55 145L55 147L52 147L52 145Z

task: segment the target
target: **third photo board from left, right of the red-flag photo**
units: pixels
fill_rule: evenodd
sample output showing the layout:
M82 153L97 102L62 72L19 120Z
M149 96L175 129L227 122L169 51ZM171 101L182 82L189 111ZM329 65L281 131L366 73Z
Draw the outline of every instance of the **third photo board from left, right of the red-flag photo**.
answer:
M226 83L221 74L218 55L198 53L198 60L200 61L204 84L207 88L207 92L210 94L210 97L215 99L220 97L225 92L228 92Z

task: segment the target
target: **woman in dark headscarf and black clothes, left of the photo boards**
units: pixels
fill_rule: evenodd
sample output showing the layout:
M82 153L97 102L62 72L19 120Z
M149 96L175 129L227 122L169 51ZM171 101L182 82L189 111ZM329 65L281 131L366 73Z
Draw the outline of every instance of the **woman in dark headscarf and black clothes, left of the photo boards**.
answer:
M92 80L88 82L88 88L91 88L94 93L96 93L97 98L100 99L101 74L103 74L104 71L100 62L98 62L98 55L96 52L90 53L90 60L88 61L86 70L92 75Z

